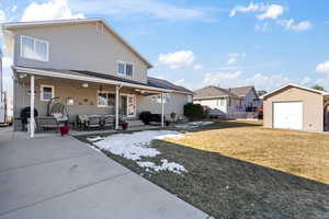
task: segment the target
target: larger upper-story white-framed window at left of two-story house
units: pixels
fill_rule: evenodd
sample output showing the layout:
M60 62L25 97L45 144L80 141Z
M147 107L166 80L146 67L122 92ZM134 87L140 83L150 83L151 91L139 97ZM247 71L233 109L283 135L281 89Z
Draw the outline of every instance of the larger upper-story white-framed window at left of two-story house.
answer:
M30 36L21 36L21 57L48 61L48 42Z

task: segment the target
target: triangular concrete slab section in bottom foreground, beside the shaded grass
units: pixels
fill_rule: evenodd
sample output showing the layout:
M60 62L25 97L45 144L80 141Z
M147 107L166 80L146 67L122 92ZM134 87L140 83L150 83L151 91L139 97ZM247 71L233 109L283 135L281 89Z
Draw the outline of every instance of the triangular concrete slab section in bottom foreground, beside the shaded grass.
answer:
M0 218L206 219L207 216L135 173L129 173Z

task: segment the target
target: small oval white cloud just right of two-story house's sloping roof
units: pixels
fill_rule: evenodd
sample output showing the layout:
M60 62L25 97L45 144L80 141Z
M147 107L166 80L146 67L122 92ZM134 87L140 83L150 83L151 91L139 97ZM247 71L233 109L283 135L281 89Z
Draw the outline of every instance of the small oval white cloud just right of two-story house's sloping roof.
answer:
M195 60L194 54L191 50L180 50L169 54L160 54L158 61L169 66L171 69L181 69L193 65Z

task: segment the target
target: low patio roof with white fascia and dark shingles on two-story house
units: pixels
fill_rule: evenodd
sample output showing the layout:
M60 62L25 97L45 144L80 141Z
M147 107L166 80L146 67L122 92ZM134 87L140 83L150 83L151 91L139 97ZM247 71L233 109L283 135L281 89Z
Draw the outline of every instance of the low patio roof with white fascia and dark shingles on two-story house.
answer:
M31 68L31 67L13 67L18 72L25 72L31 74L41 74L58 78L67 78L72 80L103 82L110 84L124 84L126 87L136 87L140 89L158 90L163 92L178 92L192 94L193 92L175 85L169 81L160 80L156 78L148 78L147 83L134 81L126 78L115 77L111 74L104 74L100 72L87 71L87 70L68 70L68 69L52 69L52 68Z

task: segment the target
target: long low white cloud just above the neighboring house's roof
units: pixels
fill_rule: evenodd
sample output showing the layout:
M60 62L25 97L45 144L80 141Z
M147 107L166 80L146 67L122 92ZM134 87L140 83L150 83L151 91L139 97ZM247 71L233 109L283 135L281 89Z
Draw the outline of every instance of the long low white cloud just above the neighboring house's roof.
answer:
M250 78L242 76L241 71L206 73L202 85L219 85L223 88L254 85L257 89L270 91L291 81L290 78L282 74L256 73Z

